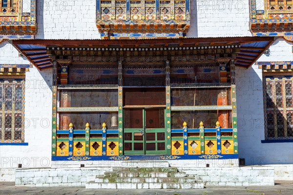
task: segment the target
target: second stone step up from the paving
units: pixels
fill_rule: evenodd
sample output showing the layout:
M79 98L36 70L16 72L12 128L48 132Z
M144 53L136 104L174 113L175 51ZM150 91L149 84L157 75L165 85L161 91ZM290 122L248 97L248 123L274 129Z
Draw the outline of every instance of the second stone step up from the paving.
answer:
M193 183L194 177L96 177L96 183Z

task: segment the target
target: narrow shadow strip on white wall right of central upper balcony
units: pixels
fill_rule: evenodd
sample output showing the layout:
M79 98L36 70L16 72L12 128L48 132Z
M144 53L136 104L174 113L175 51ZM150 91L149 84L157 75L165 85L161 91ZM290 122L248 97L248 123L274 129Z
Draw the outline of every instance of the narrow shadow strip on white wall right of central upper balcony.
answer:
M197 0L190 0L190 26L187 32L187 38L198 37L197 27Z

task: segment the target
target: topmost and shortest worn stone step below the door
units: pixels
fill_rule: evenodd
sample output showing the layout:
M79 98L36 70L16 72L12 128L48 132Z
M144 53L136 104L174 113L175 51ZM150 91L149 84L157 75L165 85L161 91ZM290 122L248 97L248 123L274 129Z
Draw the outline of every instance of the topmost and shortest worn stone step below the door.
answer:
M177 172L176 167L144 167L144 168L127 168L127 167L112 167L112 172Z

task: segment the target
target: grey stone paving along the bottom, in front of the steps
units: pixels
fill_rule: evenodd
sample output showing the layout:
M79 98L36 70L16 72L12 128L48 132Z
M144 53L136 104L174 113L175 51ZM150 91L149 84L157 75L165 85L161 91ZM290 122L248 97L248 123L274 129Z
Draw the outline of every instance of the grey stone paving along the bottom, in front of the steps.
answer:
M0 182L0 195L293 195L293 181L276 181L274 186L207 186L188 190L96 190L84 187L15 187L14 182Z

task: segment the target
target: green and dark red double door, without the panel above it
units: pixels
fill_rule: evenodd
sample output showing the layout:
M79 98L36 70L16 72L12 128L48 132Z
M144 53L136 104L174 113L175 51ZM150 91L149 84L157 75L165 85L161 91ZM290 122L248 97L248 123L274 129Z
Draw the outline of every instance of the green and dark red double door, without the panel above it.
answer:
M166 154L165 108L124 109L124 154Z

